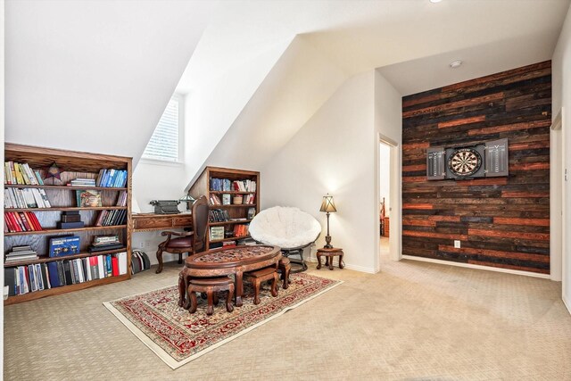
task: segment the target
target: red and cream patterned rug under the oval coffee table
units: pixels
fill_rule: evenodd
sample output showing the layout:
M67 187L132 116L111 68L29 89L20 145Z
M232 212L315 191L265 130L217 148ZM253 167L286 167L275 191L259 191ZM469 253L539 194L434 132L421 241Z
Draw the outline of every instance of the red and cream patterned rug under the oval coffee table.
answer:
M253 290L246 283L242 307L228 313L224 298L220 297L211 316L206 315L206 301L201 298L194 314L178 307L178 286L103 305L170 368L177 369L343 283L305 273L292 274L290 278L290 286L284 290L280 285L277 297L272 297L269 286L264 285L258 305L253 304Z

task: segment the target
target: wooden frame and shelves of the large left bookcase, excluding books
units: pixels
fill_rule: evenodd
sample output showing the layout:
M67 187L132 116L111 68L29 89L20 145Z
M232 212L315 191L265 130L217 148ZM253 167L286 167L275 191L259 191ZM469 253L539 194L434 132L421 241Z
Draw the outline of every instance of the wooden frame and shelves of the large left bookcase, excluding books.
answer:
M11 295L4 301L4 305L27 302L38 298L43 298L55 294L64 294L72 291L85 289L92 286L107 285L131 277L131 158L113 156L97 153L81 153L73 151L63 151L59 149L43 148L30 145L15 145L7 143L4 146L4 162L28 163L32 170L39 170L44 178L45 185L16 185L4 184L4 192L8 188L42 188L47 195L50 208L6 208L4 212L26 212L34 213L40 222L43 230L5 232L4 231L4 253L12 251L12 247L29 245L37 252L36 260L4 263L6 269L18 268L35 264L44 264L53 261L68 261L87 258L98 255L111 255L115 253L127 253L127 274L119 276L109 276L87 281L84 273L84 282L67 286L57 286L37 290L27 294ZM61 180L57 178L46 179L46 168L52 163L57 163L62 171ZM127 170L127 184L124 187L107 186L67 186L70 180L75 178L97 179L99 171L107 170ZM80 207L76 201L78 190L97 190L100 192L103 206ZM127 205L116 206L121 192L127 192ZM81 220L85 223L83 228L57 229L56 222L61 219L63 211L79 211ZM126 211L125 221L120 225L95 226L95 221L102 211ZM73 235L79 236L79 253L52 258L49 253L49 239L57 236ZM95 236L117 235L124 245L121 249L108 250L97 253L89 253L88 246L92 244ZM85 272L85 271L84 271Z

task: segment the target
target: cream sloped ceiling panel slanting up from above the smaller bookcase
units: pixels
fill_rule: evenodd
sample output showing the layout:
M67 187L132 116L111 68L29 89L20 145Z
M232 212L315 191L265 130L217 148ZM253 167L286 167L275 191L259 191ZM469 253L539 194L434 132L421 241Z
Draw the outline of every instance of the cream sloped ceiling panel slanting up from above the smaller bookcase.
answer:
M221 140L211 142L217 145L203 165L260 169L345 79L343 71L328 57L303 37L295 37L232 127ZM200 172L202 169L197 175ZM262 195L262 199L264 197Z

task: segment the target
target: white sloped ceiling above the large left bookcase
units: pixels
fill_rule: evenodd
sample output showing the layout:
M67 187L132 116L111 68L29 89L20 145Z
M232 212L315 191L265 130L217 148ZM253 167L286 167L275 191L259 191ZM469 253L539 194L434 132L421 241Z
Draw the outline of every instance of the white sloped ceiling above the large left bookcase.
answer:
M212 6L6 1L5 140L137 161Z

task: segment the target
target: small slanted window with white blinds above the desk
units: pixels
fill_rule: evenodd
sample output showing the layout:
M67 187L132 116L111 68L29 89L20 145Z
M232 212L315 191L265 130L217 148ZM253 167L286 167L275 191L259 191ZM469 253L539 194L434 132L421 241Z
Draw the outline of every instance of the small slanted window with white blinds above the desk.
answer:
M161 162L179 162L180 151L180 97L173 95L159 124L154 128L153 136L146 145L143 159Z

